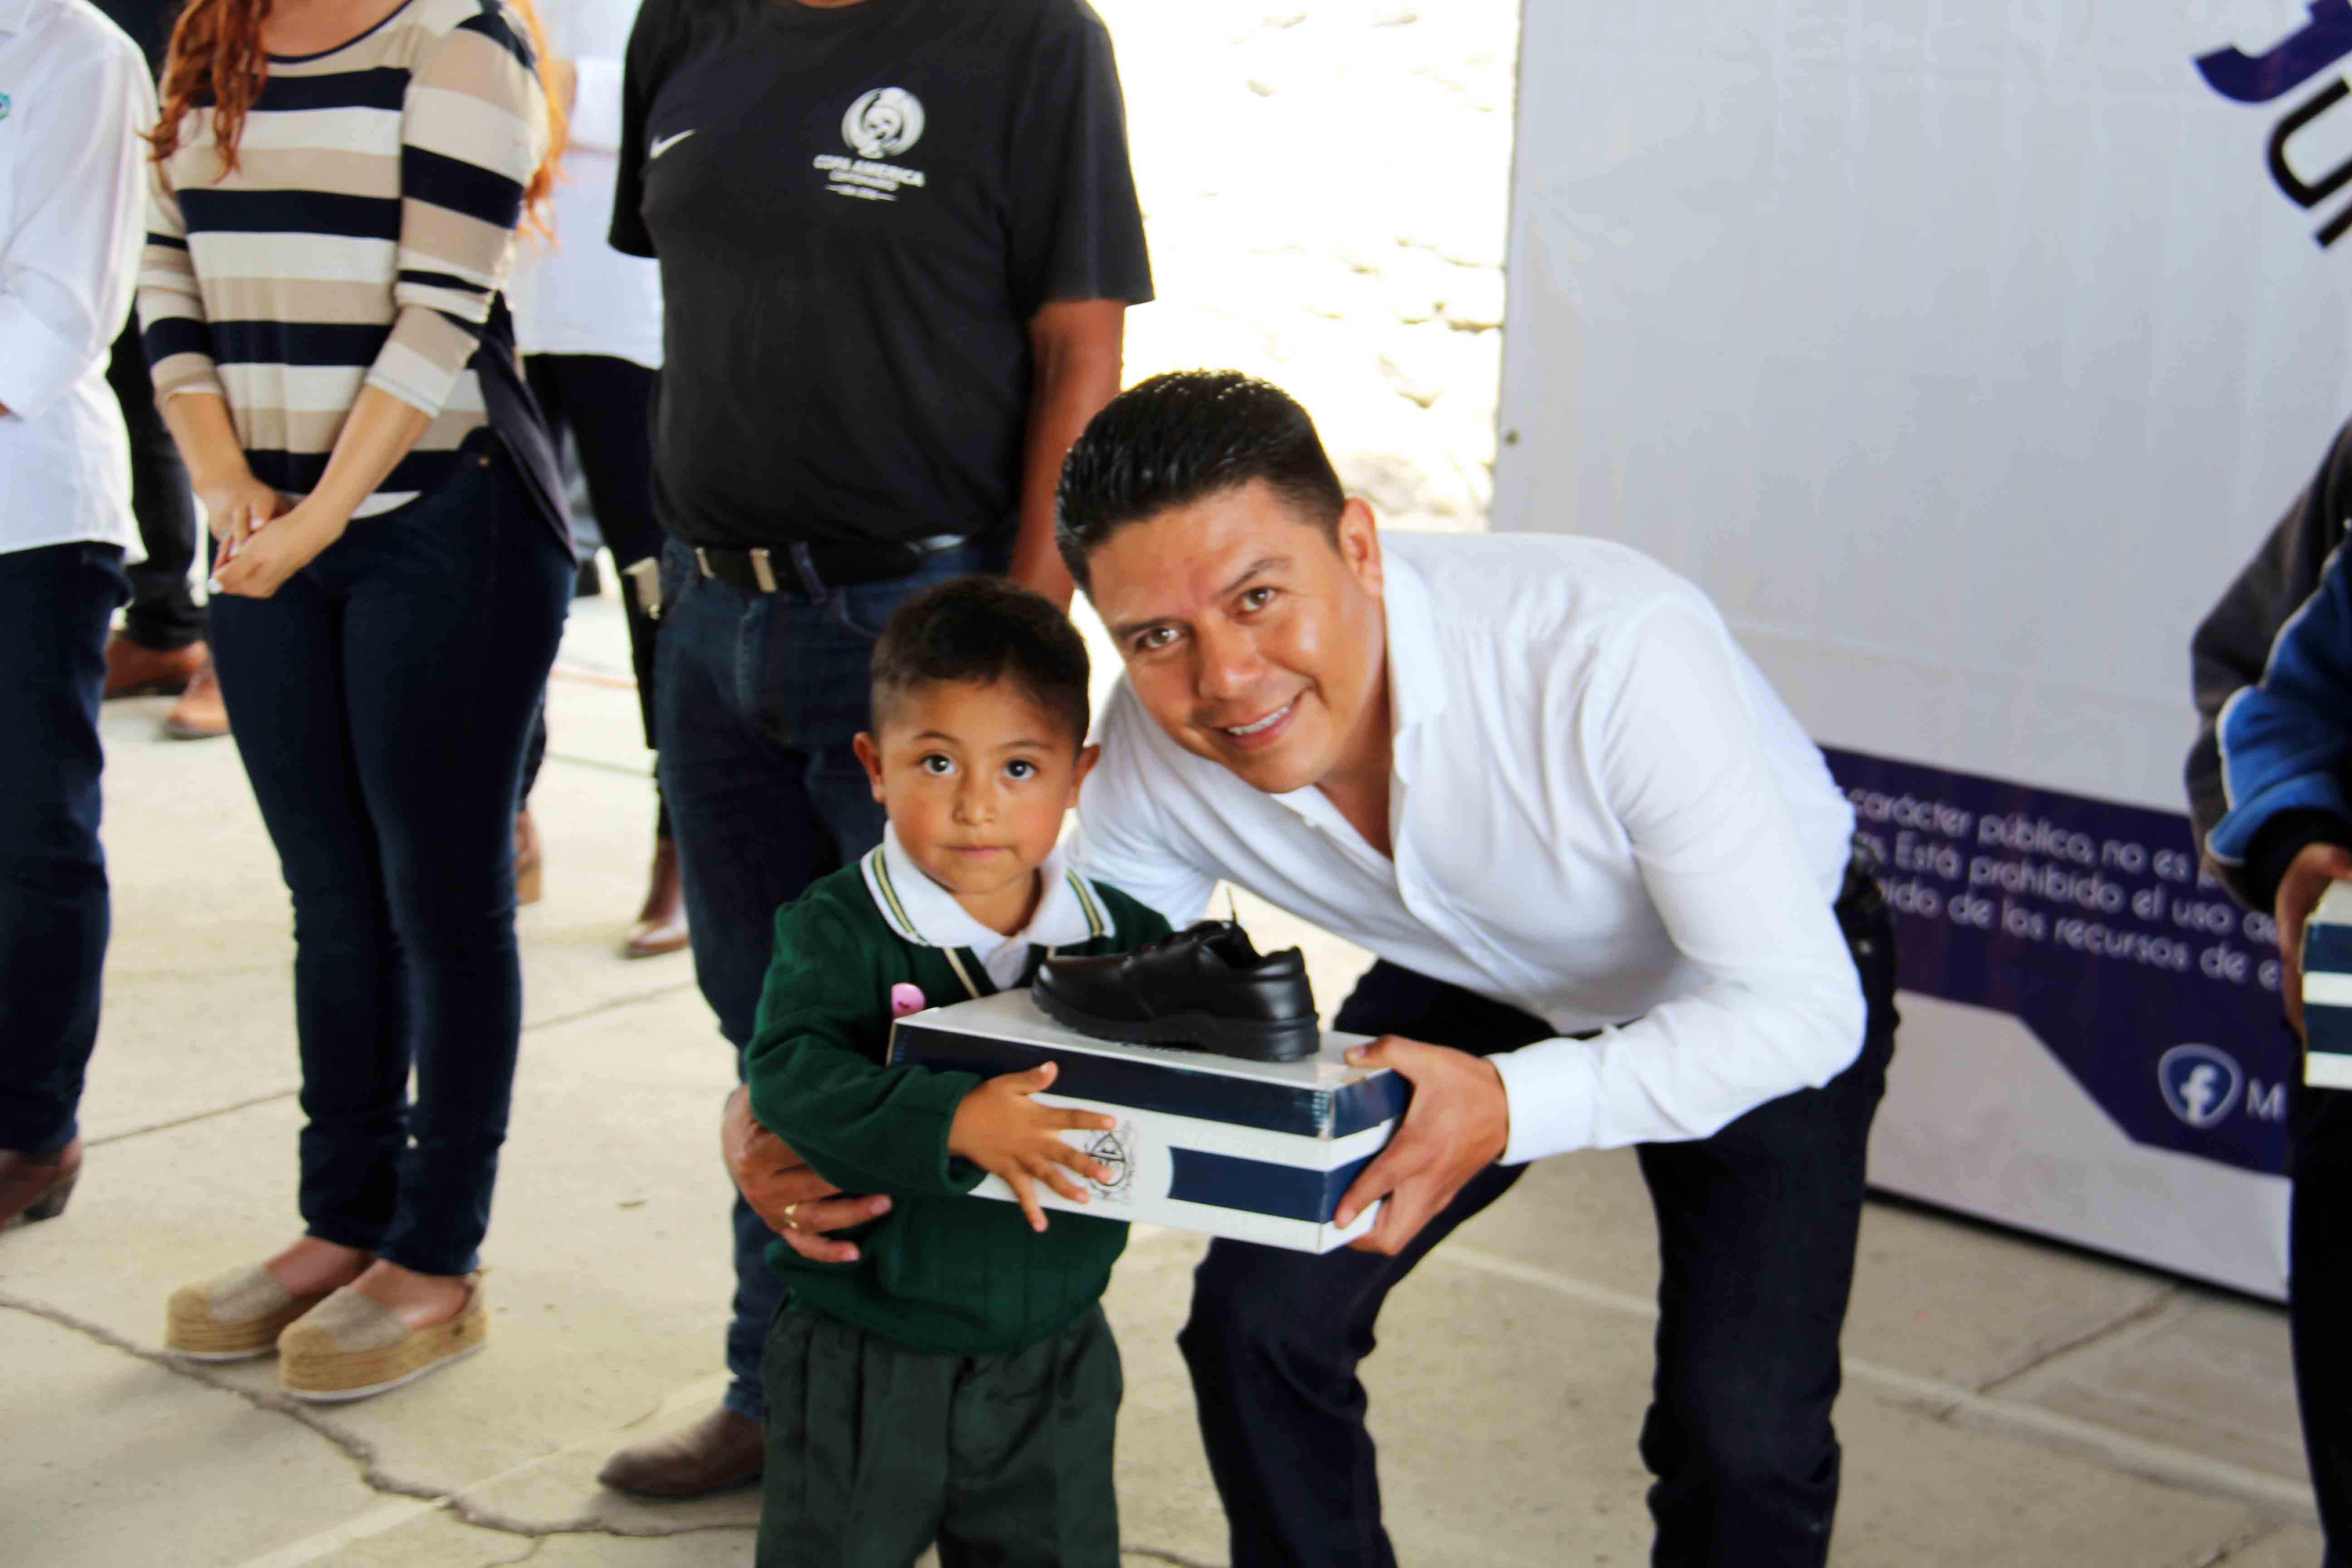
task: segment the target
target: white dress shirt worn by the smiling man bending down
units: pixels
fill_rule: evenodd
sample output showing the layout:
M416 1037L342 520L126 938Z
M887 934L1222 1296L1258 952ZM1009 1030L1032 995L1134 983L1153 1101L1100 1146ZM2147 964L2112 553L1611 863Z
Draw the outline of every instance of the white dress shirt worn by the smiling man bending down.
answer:
M1715 607L1623 545L1383 534L1390 842L1178 748L1127 682L1087 877L1178 929L1225 877L1559 1034L1496 1056L1505 1164L1705 1138L1863 1044L1853 813Z

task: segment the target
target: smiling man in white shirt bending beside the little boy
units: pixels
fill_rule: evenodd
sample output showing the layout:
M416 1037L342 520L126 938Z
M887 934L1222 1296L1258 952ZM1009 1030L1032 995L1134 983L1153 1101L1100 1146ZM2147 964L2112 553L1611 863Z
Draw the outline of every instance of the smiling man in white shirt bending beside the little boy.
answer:
M1411 1079L1352 1251L1214 1241L1178 1338L1235 1568L1385 1568L1359 1361L1526 1161L1635 1145L1658 1225L1656 1561L1818 1568L1893 924L1820 752L1708 599L1566 536L1388 534L1235 371L1112 400L1058 541L1124 661L1077 863L1197 919L1230 879L1378 961L1334 1027ZM786 1241L870 1218L729 1110ZM1529 1326L1534 1331L1534 1326Z

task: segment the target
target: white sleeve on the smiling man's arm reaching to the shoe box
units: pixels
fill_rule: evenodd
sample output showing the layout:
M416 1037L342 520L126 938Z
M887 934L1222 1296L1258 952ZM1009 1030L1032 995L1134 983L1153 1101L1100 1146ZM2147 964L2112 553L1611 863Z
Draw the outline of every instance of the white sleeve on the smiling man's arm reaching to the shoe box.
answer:
M1860 980L1764 766L1729 632L1670 602L1604 663L1545 722L1583 726L1642 884L1705 980L1597 1039L1496 1056L1503 1164L1708 1138L1828 1084L1863 1044Z

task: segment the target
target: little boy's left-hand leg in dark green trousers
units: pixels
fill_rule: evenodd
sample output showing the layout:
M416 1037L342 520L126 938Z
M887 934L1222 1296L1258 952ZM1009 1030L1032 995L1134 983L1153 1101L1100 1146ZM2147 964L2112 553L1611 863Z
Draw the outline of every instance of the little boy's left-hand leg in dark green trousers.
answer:
M950 1406L967 1366L779 1312L762 1363L757 1568L913 1568L948 1500Z

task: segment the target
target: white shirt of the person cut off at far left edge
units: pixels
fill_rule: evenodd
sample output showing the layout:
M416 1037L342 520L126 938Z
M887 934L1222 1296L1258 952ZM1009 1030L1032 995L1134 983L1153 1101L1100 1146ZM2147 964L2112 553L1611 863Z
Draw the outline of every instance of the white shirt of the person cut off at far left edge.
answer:
M89 0L0 0L0 552L139 552L106 350L139 282L151 125L146 56Z

